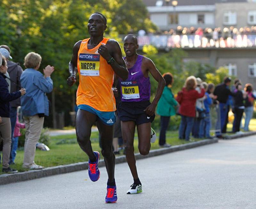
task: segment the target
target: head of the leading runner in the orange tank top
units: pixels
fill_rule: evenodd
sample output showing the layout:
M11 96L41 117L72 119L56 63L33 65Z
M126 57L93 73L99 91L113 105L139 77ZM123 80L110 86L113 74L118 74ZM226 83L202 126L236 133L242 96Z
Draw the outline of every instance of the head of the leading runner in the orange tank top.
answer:
M92 14L88 21L88 31L92 36L100 36L107 29L103 18L99 14Z

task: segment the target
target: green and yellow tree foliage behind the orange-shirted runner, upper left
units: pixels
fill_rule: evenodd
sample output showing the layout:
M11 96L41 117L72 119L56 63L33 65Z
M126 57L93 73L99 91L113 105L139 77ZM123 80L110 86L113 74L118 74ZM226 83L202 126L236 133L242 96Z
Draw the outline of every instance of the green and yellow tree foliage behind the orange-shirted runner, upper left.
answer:
M89 37L87 23L93 12L106 16L105 37L118 41L119 34L156 29L142 0L3 0L0 7L0 44L11 48L13 61L21 66L31 51L42 56L41 72L48 64L54 66L55 107L66 116L73 111L77 89L66 85L68 62L74 44ZM52 126L51 121L46 125Z

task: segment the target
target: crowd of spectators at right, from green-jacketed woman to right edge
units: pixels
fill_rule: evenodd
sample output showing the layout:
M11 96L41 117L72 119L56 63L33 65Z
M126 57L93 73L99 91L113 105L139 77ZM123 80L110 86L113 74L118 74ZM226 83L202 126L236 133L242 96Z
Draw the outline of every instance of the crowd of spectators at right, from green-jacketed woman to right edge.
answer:
M179 139L193 141L194 138L212 139L214 136L223 138L227 132L228 114L234 113L233 133L241 133L241 121L245 115L244 131L249 131L249 123L253 115L253 105L256 97L253 94L252 84L247 83L244 87L239 79L235 79L234 85L230 87L231 78L225 77L223 83L216 87L213 83L202 82L200 78L189 76L185 85L178 92L176 100L171 90L172 74L163 75L166 86L159 100L157 113L161 116L161 131L159 145L169 147L165 142L165 134L169 125L170 116L177 114L181 116L179 126ZM171 77L171 82L170 82ZM211 107L214 108L215 124L212 124ZM244 114L245 113L245 114ZM214 136L210 133L214 130Z

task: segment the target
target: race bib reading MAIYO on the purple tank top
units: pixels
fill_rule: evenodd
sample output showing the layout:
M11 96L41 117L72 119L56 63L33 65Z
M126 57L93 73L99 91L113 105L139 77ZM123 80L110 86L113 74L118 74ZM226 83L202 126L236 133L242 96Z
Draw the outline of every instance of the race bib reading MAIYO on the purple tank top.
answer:
M137 81L121 81L123 99L138 99L140 91Z

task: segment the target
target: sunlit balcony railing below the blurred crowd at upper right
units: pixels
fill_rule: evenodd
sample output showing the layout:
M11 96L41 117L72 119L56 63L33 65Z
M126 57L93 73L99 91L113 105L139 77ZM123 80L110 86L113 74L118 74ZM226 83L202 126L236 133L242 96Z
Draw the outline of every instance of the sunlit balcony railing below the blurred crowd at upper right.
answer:
M234 35L213 40L200 35L147 35L139 36L138 44L153 45L158 49L170 48L252 48L256 47L256 35Z

